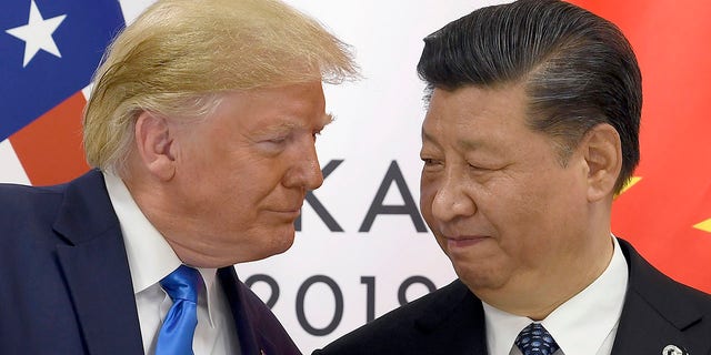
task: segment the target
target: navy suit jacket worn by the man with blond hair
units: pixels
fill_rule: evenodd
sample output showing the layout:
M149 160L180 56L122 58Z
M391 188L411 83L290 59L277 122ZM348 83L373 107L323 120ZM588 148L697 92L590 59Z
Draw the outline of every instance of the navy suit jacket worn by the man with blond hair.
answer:
M233 267L218 271L242 354L300 354ZM0 184L0 354L143 354L119 220L98 171Z

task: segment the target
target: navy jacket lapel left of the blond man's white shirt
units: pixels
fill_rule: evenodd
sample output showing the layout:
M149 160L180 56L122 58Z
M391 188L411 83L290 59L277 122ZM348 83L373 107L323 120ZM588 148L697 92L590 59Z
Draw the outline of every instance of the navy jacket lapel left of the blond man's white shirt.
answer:
M88 353L143 354L121 229L100 172L67 186L54 230L69 243L57 253Z

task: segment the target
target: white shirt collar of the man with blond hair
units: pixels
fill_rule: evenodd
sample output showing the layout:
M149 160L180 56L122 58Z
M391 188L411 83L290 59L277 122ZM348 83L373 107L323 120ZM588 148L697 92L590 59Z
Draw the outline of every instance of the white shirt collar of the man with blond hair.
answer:
M163 277L182 264L163 235L148 221L136 204L133 196L123 181L103 172L109 199L113 205L131 271L133 294L138 294L152 285L157 285ZM216 307L216 274L217 268L197 267L204 282L207 306L212 322L212 308ZM161 288L162 290L162 288Z

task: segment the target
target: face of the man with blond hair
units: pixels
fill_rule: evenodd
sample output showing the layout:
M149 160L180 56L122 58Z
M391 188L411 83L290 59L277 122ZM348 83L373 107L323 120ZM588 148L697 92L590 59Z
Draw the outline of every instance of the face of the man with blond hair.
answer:
M139 136L148 136L138 141L160 152L143 158L161 180L143 194L161 195L142 201L148 217L183 262L206 267L291 246L304 196L323 182L314 143L331 121L320 81L218 100L203 120L147 113L137 123Z

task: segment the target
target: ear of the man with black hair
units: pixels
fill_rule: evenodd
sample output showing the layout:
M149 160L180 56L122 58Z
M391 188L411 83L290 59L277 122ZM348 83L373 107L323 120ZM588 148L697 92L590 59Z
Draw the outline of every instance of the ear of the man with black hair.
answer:
M620 134L608 123L600 123L581 142L588 164L588 201L599 201L614 194L614 184L622 169Z

